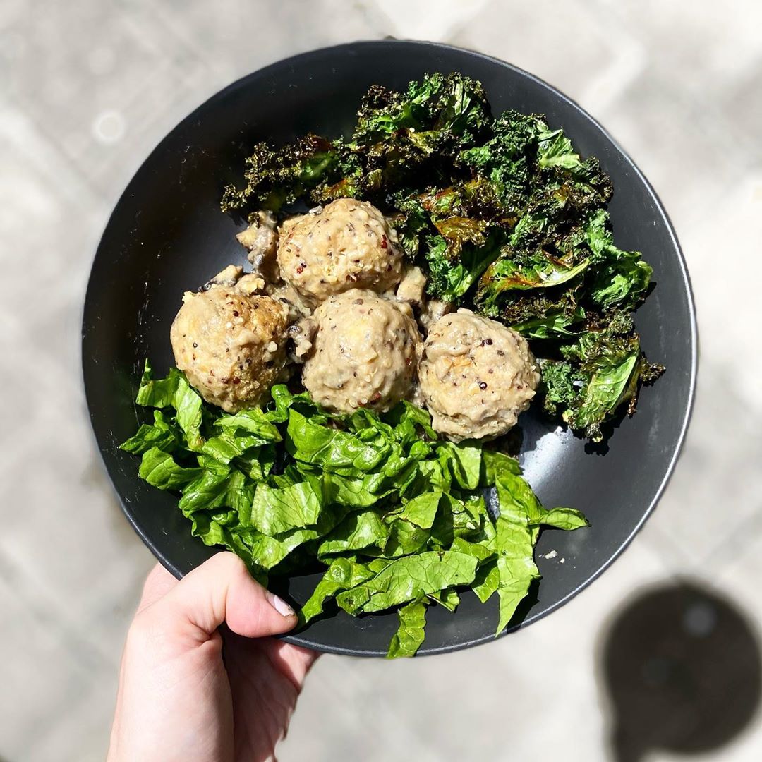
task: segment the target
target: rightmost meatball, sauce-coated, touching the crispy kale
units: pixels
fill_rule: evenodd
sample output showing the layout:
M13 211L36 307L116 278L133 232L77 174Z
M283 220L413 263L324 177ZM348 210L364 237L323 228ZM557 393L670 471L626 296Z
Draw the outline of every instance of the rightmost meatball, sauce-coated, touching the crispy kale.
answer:
M431 325L418 377L434 429L455 441L505 434L539 383L527 341L468 309Z

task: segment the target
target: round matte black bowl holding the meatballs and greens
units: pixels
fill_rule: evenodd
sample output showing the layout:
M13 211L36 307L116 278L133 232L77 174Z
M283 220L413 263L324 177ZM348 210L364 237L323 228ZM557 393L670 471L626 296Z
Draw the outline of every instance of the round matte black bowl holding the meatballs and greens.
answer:
M546 114L583 155L600 159L615 194L616 243L652 264L656 288L637 313L645 351L667 373L644 389L637 414L623 419L608 447L591 447L530 411L523 415L521 459L544 504L581 508L592 526L547 531L537 559L543 580L514 628L558 608L622 552L651 513L674 467L690 416L696 376L696 322L684 260L652 187L592 117L527 72L468 50L418 42L353 43L278 62L216 94L162 140L124 191L95 256L82 325L85 389L104 463L130 523L156 557L180 577L214 552L191 537L177 498L138 478L138 459L118 450L135 431L133 404L145 357L157 371L172 364L169 326L184 290L229 263L244 263L219 211L223 185L238 179L255 141L289 141L310 130L335 136L354 123L360 96L374 83L404 88L425 72L459 71L482 81L495 113ZM555 550L553 559L543 555ZM561 564L560 560L565 559ZM304 600L316 575L293 578ZM491 640L494 601L472 594L455 614L435 607L420 653ZM396 616L344 613L315 621L291 642L321 651L383 655Z

